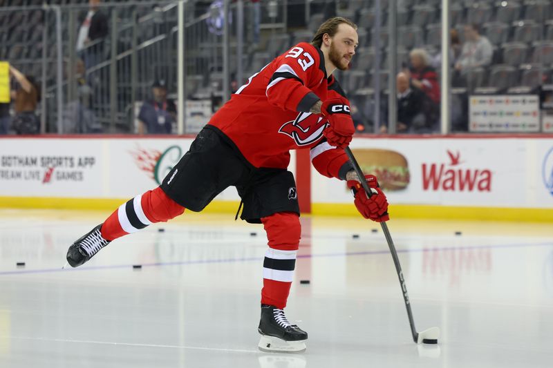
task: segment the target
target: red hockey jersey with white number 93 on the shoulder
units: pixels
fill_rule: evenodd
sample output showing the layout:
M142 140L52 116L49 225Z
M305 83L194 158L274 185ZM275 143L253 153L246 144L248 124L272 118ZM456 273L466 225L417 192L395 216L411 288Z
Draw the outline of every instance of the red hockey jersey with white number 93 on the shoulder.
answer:
M256 167L287 168L290 150L310 148L319 173L344 179L350 169L346 153L326 142L326 119L309 112L319 99L337 95L345 94L326 75L323 53L302 42L252 75L208 124Z

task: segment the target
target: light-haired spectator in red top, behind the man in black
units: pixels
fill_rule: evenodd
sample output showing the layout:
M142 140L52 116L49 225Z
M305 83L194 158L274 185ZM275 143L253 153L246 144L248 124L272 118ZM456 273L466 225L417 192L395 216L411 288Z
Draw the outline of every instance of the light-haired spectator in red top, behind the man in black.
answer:
M411 68L407 76L411 78L411 86L422 90L437 105L440 104L440 84L438 75L430 66L429 55L422 48L414 48L409 52Z

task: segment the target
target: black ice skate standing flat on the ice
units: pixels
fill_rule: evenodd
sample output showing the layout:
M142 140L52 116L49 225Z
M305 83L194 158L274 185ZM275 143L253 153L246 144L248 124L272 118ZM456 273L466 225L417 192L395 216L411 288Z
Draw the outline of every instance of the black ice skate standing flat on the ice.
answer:
M261 351L299 352L306 349L307 332L292 325L284 311L272 305L261 304L259 328Z

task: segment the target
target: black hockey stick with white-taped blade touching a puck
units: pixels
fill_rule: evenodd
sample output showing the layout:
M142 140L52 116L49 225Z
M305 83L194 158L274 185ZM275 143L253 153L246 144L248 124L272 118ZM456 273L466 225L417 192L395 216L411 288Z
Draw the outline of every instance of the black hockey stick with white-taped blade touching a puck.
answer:
M365 175L361 171L359 164L357 164L357 160L353 156L353 153L351 152L349 147L346 147L345 151L346 151L346 154L348 155L348 158L350 159L351 164L353 165L353 169L355 170L355 173L359 177L359 182L361 182L361 185L363 186L368 197L371 197L372 195L371 188L368 187L366 180L363 180ZM392 236L390 235L390 231L388 231L388 225L386 224L386 222L380 222L380 225L382 226L384 237L386 237L386 242L388 242L390 253L392 253L393 263L395 264L395 271L397 271L397 277L400 279L400 285L402 287L402 293L403 293L403 300L405 302L405 307L407 309L407 316L409 316L409 325L411 326L411 333L413 334L413 341L418 344L420 344L421 342L423 344L438 344L438 338L440 338L440 329L438 327L431 327L421 332L417 332L417 329L415 329L413 312L411 312L411 302L409 302L409 294L407 293L407 287L405 284L405 279L403 277L402 267L400 265L400 259L397 258L397 251L395 251L395 246L393 245Z

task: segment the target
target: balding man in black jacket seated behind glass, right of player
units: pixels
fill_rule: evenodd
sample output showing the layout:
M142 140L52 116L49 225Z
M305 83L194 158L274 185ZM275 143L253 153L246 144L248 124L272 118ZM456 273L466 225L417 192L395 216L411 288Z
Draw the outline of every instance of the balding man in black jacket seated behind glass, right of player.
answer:
M425 106L429 97L422 90L411 88L405 72L397 74L397 133L422 133L429 128ZM380 126L380 133L388 133L386 125Z

